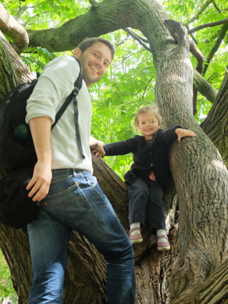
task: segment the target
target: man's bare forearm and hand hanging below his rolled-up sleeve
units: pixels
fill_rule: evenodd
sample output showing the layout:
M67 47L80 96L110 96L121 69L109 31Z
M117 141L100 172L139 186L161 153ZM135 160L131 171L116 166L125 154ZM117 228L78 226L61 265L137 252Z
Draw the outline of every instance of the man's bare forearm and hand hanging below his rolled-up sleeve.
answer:
M33 201L41 201L48 193L51 173L51 119L46 116L35 117L29 121L29 127L36 150L37 163L33 171L33 177L26 189L31 191L28 196Z

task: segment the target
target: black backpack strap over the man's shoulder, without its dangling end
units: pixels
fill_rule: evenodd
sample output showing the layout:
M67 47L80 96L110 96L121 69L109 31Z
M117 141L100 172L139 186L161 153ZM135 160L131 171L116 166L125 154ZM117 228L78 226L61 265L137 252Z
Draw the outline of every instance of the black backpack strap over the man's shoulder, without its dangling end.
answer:
M78 61L77 58L73 57L75 60ZM81 89L82 86L82 80L83 80L83 75L82 75L82 71L81 71L81 65L80 62L78 61L79 67L80 67L80 71L79 71L79 75L78 78L76 79L76 81L74 82L74 90L71 92L71 94L69 96L67 96L64 104L61 106L61 108L58 110L56 116L55 116L55 122L53 123L53 125L51 126L51 130L54 128L54 126L57 124L58 120L60 119L60 117L63 115L64 111L67 109L68 105L70 104L72 98L73 98L73 93L74 96L78 95L79 90ZM76 95L75 95L76 94Z

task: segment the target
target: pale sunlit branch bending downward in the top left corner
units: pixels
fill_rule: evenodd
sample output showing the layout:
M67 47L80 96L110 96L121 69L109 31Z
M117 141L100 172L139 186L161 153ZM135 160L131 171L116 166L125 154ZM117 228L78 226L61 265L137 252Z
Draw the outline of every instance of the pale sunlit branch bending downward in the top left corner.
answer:
M11 38L14 43L12 47L17 54L21 54L29 44L26 30L11 16L0 3L0 29L2 33Z

